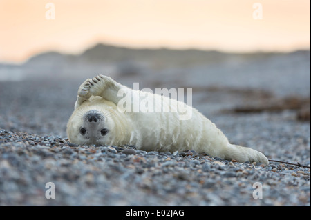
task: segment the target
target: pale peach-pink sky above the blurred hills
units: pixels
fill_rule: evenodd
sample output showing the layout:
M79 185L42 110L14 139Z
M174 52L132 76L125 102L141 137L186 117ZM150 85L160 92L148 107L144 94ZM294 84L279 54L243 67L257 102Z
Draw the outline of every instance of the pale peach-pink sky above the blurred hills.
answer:
M254 3L263 19L254 19ZM46 3L55 19L46 19ZM95 43L225 52L310 49L310 0L1 0L0 61Z

